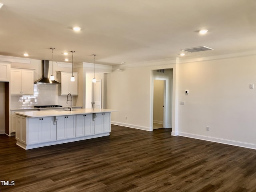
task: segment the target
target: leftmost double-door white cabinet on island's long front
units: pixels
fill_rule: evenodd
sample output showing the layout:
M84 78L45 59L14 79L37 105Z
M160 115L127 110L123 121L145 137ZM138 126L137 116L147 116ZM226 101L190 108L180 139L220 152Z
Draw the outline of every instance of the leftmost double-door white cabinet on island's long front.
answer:
M52 118L28 118L28 141L27 144L39 144L50 142L52 138Z

